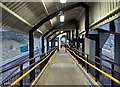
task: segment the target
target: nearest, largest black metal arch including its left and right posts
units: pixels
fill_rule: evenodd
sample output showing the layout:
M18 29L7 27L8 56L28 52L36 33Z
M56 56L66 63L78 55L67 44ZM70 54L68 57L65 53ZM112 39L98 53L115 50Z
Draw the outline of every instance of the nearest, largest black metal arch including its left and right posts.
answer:
M45 22L49 21L53 17L57 16L60 13L60 11L66 12L68 10L71 10L73 8L80 7L80 6L85 8L85 30L86 30L86 36L88 35L88 31L89 31L89 6L87 4L85 4L85 3L83 3L83 2L79 2L79 3L75 3L73 5L61 8L61 9L57 10L56 12L48 15L44 19L42 19L34 27L32 27L32 29L29 31L29 58L30 59L34 57L34 34L33 34L33 32L35 30L37 30L42 24L44 24ZM34 62L35 62L35 59L31 60L30 61L30 65L32 65ZM30 68L32 68L33 66L31 66ZM30 82L32 82L34 78L35 78L35 70L33 70L30 73Z

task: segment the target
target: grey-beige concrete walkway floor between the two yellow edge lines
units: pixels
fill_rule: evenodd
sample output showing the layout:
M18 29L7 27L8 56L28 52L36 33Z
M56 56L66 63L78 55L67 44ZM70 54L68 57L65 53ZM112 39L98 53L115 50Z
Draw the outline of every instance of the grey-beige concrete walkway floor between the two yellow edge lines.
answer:
M86 85L91 84L64 50L51 59L37 85Z

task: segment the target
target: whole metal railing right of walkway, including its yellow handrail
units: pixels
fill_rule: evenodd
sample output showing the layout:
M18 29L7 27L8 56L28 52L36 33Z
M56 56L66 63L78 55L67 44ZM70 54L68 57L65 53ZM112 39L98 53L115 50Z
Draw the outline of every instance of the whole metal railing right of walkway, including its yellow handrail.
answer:
M89 54L80 52L76 48L69 48L68 47L67 49L77 59L77 61L79 63L81 63L83 67L86 68L87 72L90 72L90 68L95 70L95 75L93 75L93 73L90 72L95 77L95 81L100 81L98 76L99 75L104 75L105 77L107 77L108 79L111 80L110 85L112 87L114 86L114 83L117 83L117 84L120 85L120 81L117 78L114 77L115 73L120 75L119 71L114 70L115 66L120 67L119 64L117 64L117 63L115 63L113 61L107 60L107 59L102 59L102 58L97 57L97 56L93 56L93 55L89 55ZM90 60L90 57L94 58L95 61ZM96 59L98 59L98 60L96 61ZM105 65L102 65L100 63L100 61L105 61L105 62L110 63L112 65L112 68L109 68L109 67L107 67ZM103 71L101 69L101 67L109 69L111 71L111 75L109 73L106 73L105 71Z

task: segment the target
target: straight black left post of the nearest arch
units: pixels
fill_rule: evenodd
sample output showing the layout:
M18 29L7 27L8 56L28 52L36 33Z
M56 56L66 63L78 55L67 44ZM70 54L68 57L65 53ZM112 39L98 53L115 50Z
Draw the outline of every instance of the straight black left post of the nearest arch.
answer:
M29 32L29 59L32 59L34 57L34 35L33 33ZM30 65L32 65L35 62L35 59L31 60L29 62ZM33 67L32 65L30 69ZM30 73L30 83L35 79L35 70L33 70Z

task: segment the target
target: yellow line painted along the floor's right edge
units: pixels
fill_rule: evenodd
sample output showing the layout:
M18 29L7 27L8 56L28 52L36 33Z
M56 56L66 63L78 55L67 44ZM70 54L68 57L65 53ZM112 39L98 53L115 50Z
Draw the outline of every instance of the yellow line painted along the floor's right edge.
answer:
M78 61L75 59L75 57L69 53L69 51L67 51L67 52L72 57L72 59L76 62L76 64L83 70L83 72L90 78L90 80L93 82L93 84L97 87L100 87L99 84L95 81L95 78L93 78L92 76L90 76L87 73L87 71L82 67L81 64L78 63Z

